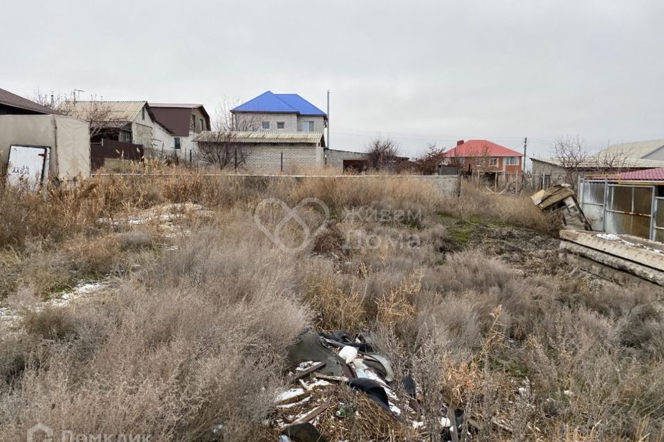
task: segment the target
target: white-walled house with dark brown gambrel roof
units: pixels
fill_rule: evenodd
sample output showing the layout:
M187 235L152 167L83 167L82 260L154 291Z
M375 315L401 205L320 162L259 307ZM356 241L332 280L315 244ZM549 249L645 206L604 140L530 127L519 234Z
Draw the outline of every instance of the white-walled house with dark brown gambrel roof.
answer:
M210 131L210 115L202 104L150 103L154 113L152 149L160 157L196 157L194 137Z

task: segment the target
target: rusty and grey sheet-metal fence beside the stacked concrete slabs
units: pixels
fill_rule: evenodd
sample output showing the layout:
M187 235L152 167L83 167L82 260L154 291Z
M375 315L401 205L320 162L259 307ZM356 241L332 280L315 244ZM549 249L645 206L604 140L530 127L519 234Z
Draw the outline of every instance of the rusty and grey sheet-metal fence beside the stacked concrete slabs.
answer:
M664 197L652 184L581 180L579 202L596 231L664 242Z

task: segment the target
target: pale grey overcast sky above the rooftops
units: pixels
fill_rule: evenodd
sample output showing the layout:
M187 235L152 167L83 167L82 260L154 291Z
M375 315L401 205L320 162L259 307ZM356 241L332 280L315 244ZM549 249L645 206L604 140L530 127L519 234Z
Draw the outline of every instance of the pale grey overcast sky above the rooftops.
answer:
M0 87L202 103L266 90L325 110L331 146L486 138L546 156L664 138L664 2L12 1Z

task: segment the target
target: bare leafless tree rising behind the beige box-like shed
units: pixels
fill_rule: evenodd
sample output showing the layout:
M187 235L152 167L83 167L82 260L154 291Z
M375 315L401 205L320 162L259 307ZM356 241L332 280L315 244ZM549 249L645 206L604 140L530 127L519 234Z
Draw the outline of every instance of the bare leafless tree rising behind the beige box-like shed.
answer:
M113 107L109 102L104 102L103 97L97 95L90 95L89 100L80 101L75 92L71 95L60 93L48 95L37 88L35 95L30 99L42 106L53 108L63 115L89 122L91 140L117 134L122 126L129 124L123 115L116 115L113 112Z

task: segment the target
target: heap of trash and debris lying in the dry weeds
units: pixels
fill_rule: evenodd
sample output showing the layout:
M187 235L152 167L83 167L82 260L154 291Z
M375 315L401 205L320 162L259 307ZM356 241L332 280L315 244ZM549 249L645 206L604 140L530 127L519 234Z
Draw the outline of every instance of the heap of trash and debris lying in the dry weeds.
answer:
M362 335L307 330L287 361L289 388L270 423L279 442L430 440L414 378L396 376ZM441 441L459 441L463 412L441 404L440 427Z

